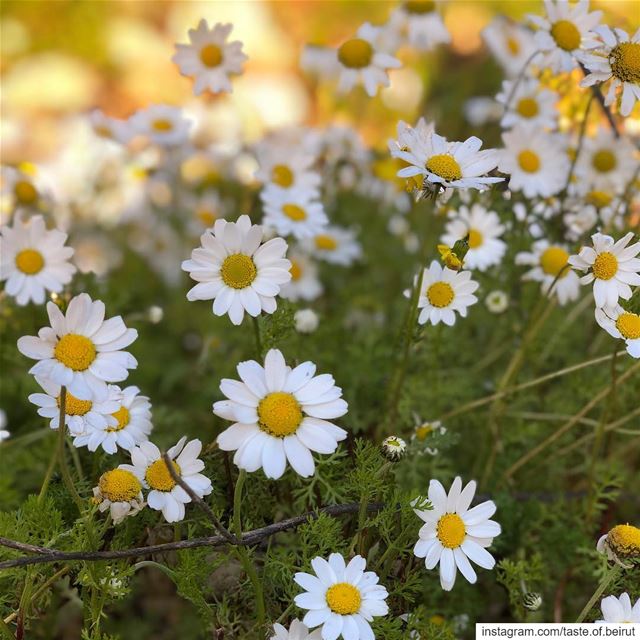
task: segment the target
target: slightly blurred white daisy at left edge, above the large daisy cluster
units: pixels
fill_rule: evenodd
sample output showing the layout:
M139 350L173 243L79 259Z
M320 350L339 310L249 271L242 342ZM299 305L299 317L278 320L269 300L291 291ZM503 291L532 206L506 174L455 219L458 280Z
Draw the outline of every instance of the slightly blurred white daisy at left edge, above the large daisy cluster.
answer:
M76 268L66 241L66 233L47 230L39 215L23 222L16 214L12 227L0 227L0 281L7 281L5 291L19 305L42 304L47 292L60 293L71 282Z

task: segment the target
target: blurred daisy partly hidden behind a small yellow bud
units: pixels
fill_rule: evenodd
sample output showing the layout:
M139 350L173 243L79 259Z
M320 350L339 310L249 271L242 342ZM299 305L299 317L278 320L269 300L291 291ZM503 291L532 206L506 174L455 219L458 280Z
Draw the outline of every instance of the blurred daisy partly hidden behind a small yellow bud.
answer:
M477 203L471 208L462 205L447 222L440 241L453 247L458 240L469 236L464 266L486 271L492 265L500 264L507 250L505 242L500 240L504 231L495 211L487 211Z

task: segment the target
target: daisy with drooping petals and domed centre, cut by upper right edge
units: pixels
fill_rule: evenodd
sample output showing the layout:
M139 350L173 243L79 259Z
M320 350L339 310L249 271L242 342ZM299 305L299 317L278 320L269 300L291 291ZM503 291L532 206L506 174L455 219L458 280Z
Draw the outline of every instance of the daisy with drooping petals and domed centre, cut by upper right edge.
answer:
M584 65L591 73L582 81L582 86L611 80L605 104L613 104L621 87L620 114L628 116L640 100L640 29L631 38L626 31L606 25L594 31L602 42L597 51L584 57Z

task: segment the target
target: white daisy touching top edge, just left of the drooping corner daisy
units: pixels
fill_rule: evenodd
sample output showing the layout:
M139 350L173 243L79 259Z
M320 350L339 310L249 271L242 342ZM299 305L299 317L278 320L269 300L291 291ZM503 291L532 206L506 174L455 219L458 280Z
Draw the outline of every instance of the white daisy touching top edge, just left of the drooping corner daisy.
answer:
M584 60L587 49L598 45L593 29L602 11L589 13L589 0L570 4L568 0L545 0L546 17L530 15L538 28L536 46L545 55L540 64L554 72L571 71Z

